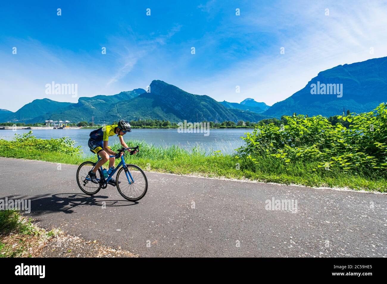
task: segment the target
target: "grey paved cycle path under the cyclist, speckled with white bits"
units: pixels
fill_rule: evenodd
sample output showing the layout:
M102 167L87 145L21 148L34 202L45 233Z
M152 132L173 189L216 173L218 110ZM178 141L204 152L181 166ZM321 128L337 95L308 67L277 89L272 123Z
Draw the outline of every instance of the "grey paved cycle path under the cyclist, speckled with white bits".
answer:
M143 257L387 256L383 194L147 172L134 203L110 185L86 196L76 170L0 158L0 199L31 199L40 226ZM296 213L266 210L273 198L293 200Z

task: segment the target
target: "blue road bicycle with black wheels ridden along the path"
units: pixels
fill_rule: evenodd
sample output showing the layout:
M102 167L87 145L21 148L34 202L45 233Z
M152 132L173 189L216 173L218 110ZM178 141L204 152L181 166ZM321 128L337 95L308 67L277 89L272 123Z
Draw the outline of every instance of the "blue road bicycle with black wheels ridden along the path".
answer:
M134 148L121 148L118 152L125 153L125 151L129 149L133 149L130 151L130 155L133 155L133 153L139 149L139 146ZM98 156L98 161L100 159L101 157ZM100 167L96 173L99 183L94 184L90 180L89 171L94 168L97 162L83 162L78 167L77 183L80 190L84 193L94 195L101 190L101 188L105 189L108 187L108 182L111 180L113 175L118 171L116 176L116 187L123 198L129 201L137 201L145 196L148 190L148 180L144 171L136 165L126 164L124 155L122 155L121 162L107 179L104 178L103 168Z

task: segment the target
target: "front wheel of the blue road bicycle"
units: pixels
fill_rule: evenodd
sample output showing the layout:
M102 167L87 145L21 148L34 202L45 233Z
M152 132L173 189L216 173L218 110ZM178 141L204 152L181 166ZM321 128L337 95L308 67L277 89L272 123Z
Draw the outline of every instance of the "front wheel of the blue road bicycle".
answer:
M125 166L124 166L125 167ZM137 201L145 196L148 190L148 180L144 171L136 165L126 165L118 170L116 181L121 196L129 201Z

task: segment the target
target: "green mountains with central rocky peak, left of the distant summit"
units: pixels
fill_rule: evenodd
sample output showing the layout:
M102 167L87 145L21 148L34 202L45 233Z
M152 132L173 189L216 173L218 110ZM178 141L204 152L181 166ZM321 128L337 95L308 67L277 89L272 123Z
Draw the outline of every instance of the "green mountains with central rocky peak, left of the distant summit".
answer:
M150 90L146 92L139 88L116 95L80 97L77 103L37 99L16 112L4 110L1 120L25 123L46 120L79 122L91 121L94 117L95 123L108 124L119 119L236 122L268 118L243 109L228 109L207 95L190 94L160 80L152 81Z

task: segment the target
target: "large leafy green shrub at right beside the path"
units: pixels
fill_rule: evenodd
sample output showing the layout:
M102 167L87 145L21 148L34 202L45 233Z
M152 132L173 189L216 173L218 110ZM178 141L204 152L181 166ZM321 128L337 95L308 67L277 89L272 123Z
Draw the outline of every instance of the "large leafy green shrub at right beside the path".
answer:
M284 165L318 162L327 170L386 172L387 104L371 112L351 113L338 119L351 124L332 125L325 117L286 116L287 125L274 123L257 126L246 133L245 145L238 155L258 164L259 157L274 156Z

